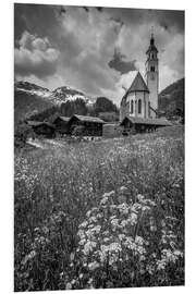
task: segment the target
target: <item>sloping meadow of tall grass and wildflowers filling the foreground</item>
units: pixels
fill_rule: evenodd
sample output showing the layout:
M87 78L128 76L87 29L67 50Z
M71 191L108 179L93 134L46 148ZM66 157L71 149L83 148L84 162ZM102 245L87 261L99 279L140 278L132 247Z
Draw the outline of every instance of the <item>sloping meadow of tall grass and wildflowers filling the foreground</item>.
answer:
M16 149L14 290L184 284L184 130Z

